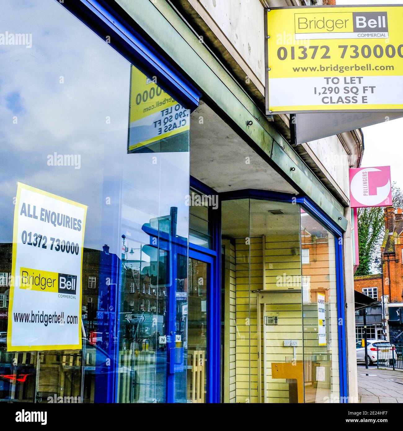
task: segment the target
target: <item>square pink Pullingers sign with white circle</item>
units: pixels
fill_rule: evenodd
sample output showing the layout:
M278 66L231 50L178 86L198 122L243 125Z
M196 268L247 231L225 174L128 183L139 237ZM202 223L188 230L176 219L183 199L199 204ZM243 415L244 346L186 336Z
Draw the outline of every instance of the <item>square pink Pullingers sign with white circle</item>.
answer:
M350 207L392 205L391 167L350 169Z

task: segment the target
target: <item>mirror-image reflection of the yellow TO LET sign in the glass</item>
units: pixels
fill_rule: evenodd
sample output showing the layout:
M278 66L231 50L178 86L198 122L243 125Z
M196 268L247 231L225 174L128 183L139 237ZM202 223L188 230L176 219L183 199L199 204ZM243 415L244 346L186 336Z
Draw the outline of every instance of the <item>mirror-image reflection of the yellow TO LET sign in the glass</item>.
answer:
M159 152L161 140L188 131L189 127L190 110L131 66L128 153ZM175 151L172 145L169 151Z

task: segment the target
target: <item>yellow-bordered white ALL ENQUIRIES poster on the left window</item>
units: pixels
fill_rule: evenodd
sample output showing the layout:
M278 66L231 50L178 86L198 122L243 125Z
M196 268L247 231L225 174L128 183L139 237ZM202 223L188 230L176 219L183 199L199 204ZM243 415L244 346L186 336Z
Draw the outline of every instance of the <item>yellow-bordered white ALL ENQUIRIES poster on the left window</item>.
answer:
M7 350L81 349L87 206L18 183Z

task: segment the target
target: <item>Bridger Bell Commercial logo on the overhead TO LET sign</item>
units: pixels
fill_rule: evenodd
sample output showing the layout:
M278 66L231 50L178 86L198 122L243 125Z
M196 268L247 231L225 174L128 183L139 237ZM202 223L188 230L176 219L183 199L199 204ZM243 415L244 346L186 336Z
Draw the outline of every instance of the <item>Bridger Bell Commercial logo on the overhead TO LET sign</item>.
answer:
M296 39L387 38L387 12L306 12L295 14Z

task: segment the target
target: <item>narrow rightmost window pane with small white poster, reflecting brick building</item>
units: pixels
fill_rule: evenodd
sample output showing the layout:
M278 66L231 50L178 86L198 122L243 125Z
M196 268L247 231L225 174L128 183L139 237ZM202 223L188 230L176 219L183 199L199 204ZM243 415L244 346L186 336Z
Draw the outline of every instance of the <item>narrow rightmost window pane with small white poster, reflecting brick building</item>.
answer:
M302 304L305 402L340 402L335 238L303 209L301 250L309 252L302 265L309 278Z

